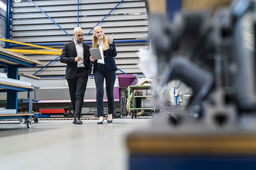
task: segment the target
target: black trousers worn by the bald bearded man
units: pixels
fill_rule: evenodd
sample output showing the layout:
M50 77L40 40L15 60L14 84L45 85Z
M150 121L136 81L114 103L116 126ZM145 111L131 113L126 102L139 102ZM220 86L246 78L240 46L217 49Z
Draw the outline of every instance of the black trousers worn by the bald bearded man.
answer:
M74 118L81 117L81 111L84 103L84 93L88 81L88 70L78 68L76 75L72 79L67 79L69 85L69 95L74 111Z

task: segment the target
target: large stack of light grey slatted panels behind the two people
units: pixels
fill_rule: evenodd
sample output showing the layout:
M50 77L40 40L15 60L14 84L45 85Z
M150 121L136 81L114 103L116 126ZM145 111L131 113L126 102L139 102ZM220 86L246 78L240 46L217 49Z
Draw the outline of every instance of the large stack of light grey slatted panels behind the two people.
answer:
M80 0L79 1L79 26L85 34L89 33L121 0ZM23 43L41 44L50 43L52 48L62 49L56 43L68 43L72 40L74 27L77 26L78 1L33 1L70 36L49 20L38 8L29 1L12 1L12 32L11 39ZM114 33L114 40L135 40L132 42L117 43L118 55L116 63L119 69L127 74L140 74L139 62L136 52L139 48L149 48L149 23L144 1L124 0L114 9L106 19L99 24L103 27L106 36ZM92 46L92 33L84 37L85 43ZM18 49L35 49L33 47L12 47ZM43 66L57 58L57 55L27 56L43 62ZM41 67L43 67L41 66ZM41 67L21 68L21 72L34 74ZM56 60L36 76L63 76L66 64ZM120 71L117 74L121 74Z

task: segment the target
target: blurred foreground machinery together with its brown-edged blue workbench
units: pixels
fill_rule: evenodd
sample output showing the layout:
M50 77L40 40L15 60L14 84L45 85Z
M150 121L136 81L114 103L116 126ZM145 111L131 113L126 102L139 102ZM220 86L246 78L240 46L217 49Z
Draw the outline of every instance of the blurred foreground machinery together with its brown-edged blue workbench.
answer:
M162 112L127 136L129 169L256 166L255 5L234 1L214 15L181 11L172 22L149 15L158 66L153 90ZM168 107L162 95L174 80L191 89L184 109Z

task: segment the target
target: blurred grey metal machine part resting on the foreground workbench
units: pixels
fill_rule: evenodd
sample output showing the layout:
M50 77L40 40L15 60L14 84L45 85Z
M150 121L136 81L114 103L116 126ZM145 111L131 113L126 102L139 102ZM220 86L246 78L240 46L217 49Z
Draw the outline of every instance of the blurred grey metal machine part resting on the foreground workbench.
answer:
M217 10L213 18L208 11L182 11L173 23L163 22L167 21L163 16L149 16L161 75L155 78L159 82L155 94L178 79L193 90L187 115L223 125L255 114L255 12L255 1L240 0ZM245 43L248 33L250 48ZM162 98L156 102L164 103Z

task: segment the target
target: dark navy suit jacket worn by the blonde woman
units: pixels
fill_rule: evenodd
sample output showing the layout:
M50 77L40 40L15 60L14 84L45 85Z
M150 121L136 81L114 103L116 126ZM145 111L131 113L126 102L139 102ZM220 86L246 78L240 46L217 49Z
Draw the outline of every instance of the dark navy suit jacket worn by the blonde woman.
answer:
M103 51L105 67L108 70L118 70L116 61L114 61L114 57L117 56L117 50L116 50L116 45L114 45L114 41L113 41L113 44L109 44L109 47L110 47L109 49ZM95 60L93 62L93 65L94 65L93 73L95 72L97 61L98 60Z

